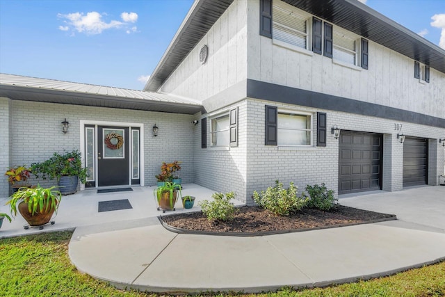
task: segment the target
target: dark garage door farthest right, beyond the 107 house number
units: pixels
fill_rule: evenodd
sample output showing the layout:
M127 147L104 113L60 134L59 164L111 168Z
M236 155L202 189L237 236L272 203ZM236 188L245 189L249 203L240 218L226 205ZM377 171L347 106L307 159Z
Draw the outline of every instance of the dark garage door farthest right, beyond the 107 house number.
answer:
M403 142L403 187L427 184L428 141L406 137Z

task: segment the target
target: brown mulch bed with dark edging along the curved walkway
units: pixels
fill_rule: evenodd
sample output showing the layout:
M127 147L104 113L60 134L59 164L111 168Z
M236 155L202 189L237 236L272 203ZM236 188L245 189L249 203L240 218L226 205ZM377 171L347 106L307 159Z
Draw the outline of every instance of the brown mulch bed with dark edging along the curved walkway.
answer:
M330 211L302 209L291 216L275 216L272 212L259 207L245 206L238 209L234 220L228 222L209 221L201 211L161 216L161 220L170 227L198 232L278 233L395 219L392 214L380 214L342 205Z

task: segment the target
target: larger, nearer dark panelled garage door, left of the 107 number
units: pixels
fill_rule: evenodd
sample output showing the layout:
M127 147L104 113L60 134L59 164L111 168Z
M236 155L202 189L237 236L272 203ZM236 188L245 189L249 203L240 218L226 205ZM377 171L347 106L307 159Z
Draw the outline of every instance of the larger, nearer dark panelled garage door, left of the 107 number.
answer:
M382 134L341 131L339 194L382 189Z

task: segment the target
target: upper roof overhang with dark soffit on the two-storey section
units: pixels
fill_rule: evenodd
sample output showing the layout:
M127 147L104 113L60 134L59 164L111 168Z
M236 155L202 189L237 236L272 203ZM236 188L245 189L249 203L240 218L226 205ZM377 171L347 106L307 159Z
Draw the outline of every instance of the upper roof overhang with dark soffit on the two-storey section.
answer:
M234 0L195 0L144 90L158 90ZM445 50L358 0L283 0L445 73Z

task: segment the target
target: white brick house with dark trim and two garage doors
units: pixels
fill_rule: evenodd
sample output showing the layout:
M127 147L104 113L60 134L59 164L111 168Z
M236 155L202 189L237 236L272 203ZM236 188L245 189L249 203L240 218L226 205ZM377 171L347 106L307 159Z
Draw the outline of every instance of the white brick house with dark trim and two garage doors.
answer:
M435 186L444 103L445 51L357 0L197 0L143 91L1 74L0 166L79 149L86 186L149 186L181 160L248 204L275 179Z

